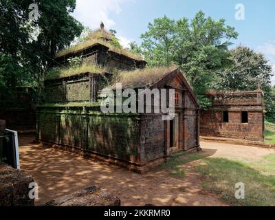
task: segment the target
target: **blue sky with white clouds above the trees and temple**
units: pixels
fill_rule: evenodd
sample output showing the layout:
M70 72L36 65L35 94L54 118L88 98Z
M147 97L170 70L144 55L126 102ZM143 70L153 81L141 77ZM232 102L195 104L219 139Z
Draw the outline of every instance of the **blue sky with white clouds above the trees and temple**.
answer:
M199 10L215 20L225 19L226 25L239 33L232 47L241 44L264 54L275 74L274 0L76 0L73 15L92 29L99 28L102 21L107 30L116 30L126 47L131 41L140 44L140 34L154 19L164 15L170 19L192 19Z

